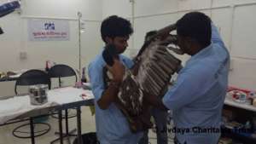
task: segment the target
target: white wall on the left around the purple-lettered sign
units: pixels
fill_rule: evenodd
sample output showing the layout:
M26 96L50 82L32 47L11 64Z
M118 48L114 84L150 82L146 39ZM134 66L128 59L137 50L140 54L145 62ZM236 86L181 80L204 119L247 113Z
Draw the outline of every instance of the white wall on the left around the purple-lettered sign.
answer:
M1 0L1 3L7 0ZM0 71L44 68L45 60L79 68L79 21L83 14L85 32L81 34L82 66L102 47L99 27L102 21L102 0L22 0L21 14L12 13L0 18L5 32L0 35ZM69 41L31 42L27 36L29 19L67 20ZM26 59L20 60L20 52ZM14 95L15 82L0 83L0 95Z

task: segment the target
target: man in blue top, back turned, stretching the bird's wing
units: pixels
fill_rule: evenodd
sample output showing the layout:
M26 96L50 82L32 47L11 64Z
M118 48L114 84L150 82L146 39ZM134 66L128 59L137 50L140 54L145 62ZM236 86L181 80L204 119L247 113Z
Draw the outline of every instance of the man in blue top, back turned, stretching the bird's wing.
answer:
M177 20L176 30L177 45L191 58L161 101L153 96L147 101L173 111L172 132L177 143L217 144L228 86L229 52L206 14L185 14Z

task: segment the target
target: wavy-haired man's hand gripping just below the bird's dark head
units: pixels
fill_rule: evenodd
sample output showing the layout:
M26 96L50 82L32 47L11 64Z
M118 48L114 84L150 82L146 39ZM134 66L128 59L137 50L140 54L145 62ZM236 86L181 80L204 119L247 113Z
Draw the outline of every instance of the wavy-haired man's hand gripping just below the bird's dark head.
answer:
M108 66L108 71L113 75L113 81L121 83L125 75L125 66L117 59L113 60L113 66Z

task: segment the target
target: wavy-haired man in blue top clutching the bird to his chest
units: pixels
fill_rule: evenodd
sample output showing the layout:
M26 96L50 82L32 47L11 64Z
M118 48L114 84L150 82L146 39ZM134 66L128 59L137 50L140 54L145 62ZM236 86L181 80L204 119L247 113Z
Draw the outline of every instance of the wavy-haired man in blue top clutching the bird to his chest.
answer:
M113 15L103 20L101 26L102 40L106 46L108 44L115 46L119 60L114 60L113 66L107 66L101 52L89 65L90 84L95 95L96 134L101 144L137 144L143 135L143 133L131 133L125 116L114 104L125 67L131 68L133 66L132 60L121 55L128 46L127 41L132 32L130 21L121 17ZM108 88L104 85L104 66L107 66L113 74Z

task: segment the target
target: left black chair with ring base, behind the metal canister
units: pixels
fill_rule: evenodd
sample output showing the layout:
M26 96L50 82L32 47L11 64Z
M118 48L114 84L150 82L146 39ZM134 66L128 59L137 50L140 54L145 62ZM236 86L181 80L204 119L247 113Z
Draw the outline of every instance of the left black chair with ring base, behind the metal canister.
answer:
M16 80L15 94L18 95L18 92L17 92L18 86L29 86L34 84L48 84L48 87L50 89L50 79L48 74L41 70L29 70L27 72L22 73L20 77ZM34 119L34 120L37 120L37 119ZM15 137L18 137L18 138L32 138L32 136L30 135L31 131L22 130L22 128L26 126L30 126L31 123L34 125L33 127L35 127L36 124L46 127L44 130L38 130L38 131L35 130L34 137L44 135L48 133L50 130L49 124L31 121L30 123L22 124L16 127L15 130L13 130L13 135L15 135ZM18 134L29 134L29 135L18 135Z

